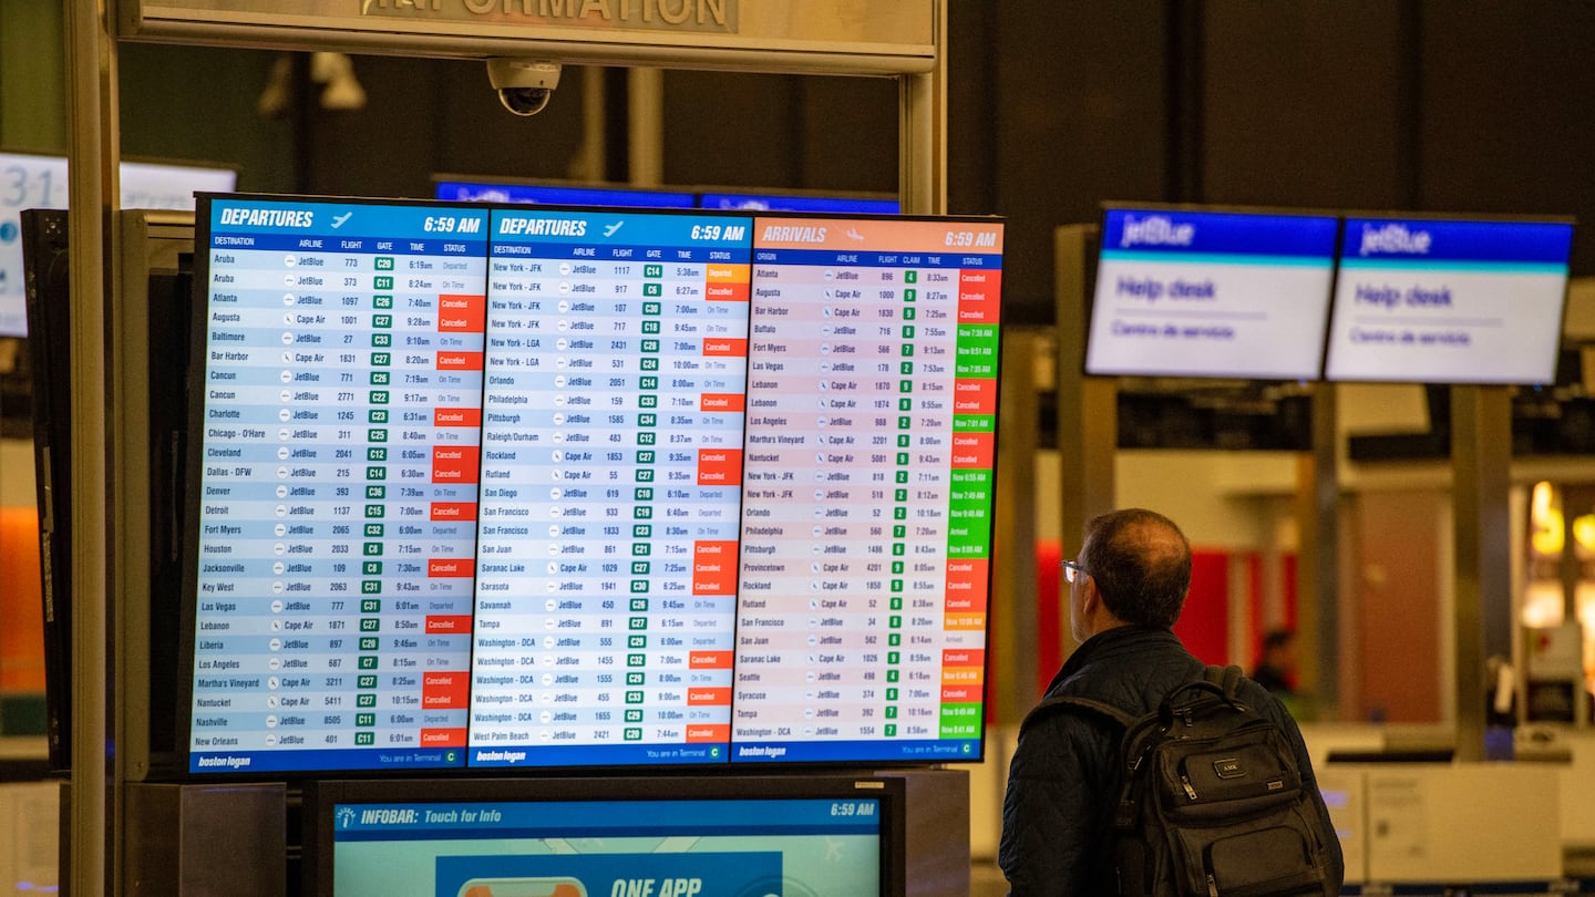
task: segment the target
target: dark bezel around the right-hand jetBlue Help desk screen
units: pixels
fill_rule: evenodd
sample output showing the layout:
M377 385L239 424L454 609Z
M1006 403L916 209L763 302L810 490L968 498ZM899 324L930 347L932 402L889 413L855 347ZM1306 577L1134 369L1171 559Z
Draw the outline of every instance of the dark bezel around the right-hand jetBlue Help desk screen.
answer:
M1353 222L1384 222L1384 223L1423 223L1434 222L1440 225L1549 225L1549 227L1565 227L1568 228L1568 254L1562 260L1562 290L1560 290L1560 308L1555 314L1555 334L1550 338L1550 345L1546 346L1542 358L1542 377L1520 378L1520 377L1499 377L1485 375L1485 369L1472 367L1471 372L1464 372L1461 377L1428 377L1428 372L1357 372L1357 373L1337 373L1332 370L1333 353L1335 353L1335 326L1340 310L1340 289L1346 281L1345 270L1345 252L1348 243L1353 239L1351 225ZM1341 236L1335 247L1335 289L1330 294L1329 305L1329 321L1324 327L1324 373L1322 378L1329 383L1408 383L1408 385L1456 385L1456 386L1549 386L1555 383L1557 378L1557 359L1562 351L1562 334L1568 314L1568 284L1571 283L1571 260L1573 260L1573 239L1574 239L1576 220L1568 215L1493 215L1493 214L1461 214L1461 212L1400 212L1400 211L1346 211L1341 212Z

